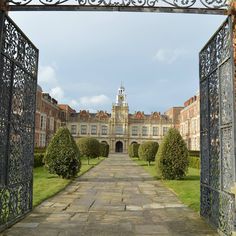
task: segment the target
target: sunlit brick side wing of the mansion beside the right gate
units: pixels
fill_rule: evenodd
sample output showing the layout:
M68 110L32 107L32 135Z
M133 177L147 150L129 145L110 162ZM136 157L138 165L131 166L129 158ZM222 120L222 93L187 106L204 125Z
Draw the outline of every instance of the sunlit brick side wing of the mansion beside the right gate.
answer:
M180 112L180 134L189 150L200 150L200 96L191 97Z

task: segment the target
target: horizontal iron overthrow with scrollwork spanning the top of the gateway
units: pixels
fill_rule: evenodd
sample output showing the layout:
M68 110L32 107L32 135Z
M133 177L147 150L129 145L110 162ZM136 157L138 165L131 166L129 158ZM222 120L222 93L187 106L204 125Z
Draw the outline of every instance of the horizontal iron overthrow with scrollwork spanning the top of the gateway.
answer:
M225 14L228 0L5 0L9 10L145 11Z

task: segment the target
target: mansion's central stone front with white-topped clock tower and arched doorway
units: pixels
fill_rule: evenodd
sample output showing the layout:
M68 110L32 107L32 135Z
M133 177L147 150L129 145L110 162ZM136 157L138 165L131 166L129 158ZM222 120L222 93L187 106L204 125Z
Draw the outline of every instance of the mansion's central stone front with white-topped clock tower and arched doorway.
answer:
M75 139L90 136L100 142L107 142L111 153L126 153L132 142L160 143L168 129L173 126L172 119L160 112L144 114L138 111L130 114L123 86L118 89L111 113L106 111L90 113L81 110L78 113L71 113L67 123Z

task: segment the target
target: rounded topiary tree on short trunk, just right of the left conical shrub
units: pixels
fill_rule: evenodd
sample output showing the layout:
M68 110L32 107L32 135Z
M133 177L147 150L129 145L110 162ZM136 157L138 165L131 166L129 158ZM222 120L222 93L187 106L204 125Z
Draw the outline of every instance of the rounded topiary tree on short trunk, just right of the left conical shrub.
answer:
M80 138L77 142L81 156L86 157L89 160L91 158L99 157L100 155L100 143L95 138Z

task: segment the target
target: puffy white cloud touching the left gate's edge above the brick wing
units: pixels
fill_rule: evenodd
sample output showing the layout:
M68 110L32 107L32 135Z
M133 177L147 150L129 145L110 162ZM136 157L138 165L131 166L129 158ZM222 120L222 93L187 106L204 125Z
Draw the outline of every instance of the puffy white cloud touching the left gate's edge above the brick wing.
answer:
M56 71L52 66L39 66L39 83L49 86L57 85Z

